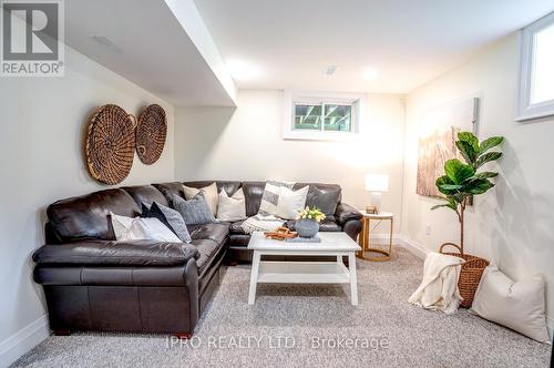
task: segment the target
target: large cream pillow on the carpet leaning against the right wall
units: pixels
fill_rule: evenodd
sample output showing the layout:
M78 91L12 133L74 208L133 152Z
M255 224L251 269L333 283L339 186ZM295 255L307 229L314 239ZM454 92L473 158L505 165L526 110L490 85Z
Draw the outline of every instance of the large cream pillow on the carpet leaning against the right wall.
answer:
M491 265L483 272L470 311L534 340L550 343L544 293L542 276L514 282Z

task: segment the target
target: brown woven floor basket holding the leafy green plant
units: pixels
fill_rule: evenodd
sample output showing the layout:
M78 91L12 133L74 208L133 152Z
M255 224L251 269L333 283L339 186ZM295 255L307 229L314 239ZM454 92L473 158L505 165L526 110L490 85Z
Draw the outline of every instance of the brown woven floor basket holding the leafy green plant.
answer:
M460 289L460 295L463 298L460 306L469 308L473 304L475 292L478 290L479 283L481 282L481 276L483 275L483 270L486 268L486 266L489 266L489 260L476 256L472 256L471 254L462 254L461 252L459 253L443 252L443 248L447 246L453 246L458 251L461 251L460 247L453 243L444 243L439 248L439 252L465 260L465 263L462 265L462 270L460 272L458 288Z

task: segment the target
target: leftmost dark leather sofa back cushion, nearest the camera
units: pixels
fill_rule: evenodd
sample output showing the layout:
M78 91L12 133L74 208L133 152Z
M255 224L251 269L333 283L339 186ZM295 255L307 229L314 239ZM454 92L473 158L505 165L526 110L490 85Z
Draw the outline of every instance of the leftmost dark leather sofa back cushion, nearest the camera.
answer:
M83 238L114 241L109 214L135 217L141 208L127 192L121 188L58 201L48 209L48 218L61 241Z

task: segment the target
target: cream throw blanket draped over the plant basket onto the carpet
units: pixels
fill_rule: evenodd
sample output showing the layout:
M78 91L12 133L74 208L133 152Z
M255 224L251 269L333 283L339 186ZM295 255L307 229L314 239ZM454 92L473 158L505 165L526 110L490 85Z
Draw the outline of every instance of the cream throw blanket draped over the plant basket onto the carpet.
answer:
M423 265L423 280L408 301L448 315L455 313L462 301L458 279L463 263L459 257L430 253Z

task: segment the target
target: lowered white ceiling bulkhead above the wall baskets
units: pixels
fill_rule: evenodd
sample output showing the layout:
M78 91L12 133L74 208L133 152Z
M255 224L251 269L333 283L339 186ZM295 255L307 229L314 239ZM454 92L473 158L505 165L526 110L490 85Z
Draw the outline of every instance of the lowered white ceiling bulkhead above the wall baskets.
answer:
M194 16L191 12L196 11L194 3L192 0L168 3L65 1L65 43L172 104L234 105L229 92L234 85L220 78L227 71L214 71L216 68L211 63L220 57L215 45L212 48L215 51L209 48L209 42L213 43L209 33L207 30L202 33L204 24L199 16L191 18ZM184 24L186 21L193 24ZM112 43L103 45L91 35L107 38ZM196 40L193 35L197 35ZM208 48L203 48L205 44ZM224 65L223 60L220 64ZM230 76L229 81L233 84Z

